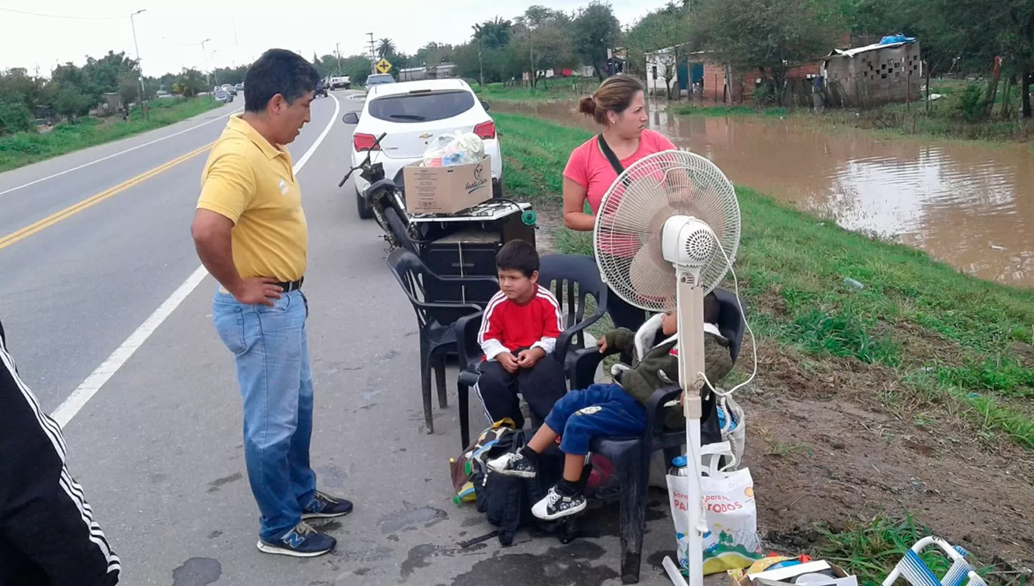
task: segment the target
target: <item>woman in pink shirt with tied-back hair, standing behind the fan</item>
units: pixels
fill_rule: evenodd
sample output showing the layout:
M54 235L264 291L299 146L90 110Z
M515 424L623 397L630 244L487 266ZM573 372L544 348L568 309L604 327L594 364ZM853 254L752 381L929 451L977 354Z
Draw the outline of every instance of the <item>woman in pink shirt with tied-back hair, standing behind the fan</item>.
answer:
M571 153L564 169L564 224L571 229L591 232L600 201L617 180L618 168L628 168L639 159L672 150L675 146L660 132L646 128L646 99L643 86L631 75L608 78L595 94L582 98L578 110L604 127ZM608 158L609 149L616 159ZM591 213L585 212L585 204ZM608 294L607 312L614 326L633 332L646 320L646 313Z

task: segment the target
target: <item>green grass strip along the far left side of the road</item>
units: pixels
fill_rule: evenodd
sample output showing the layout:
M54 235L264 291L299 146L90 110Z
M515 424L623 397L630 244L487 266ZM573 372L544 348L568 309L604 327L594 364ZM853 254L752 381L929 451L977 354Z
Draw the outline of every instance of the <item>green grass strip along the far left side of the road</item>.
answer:
M139 111L133 111L129 122L123 122L118 117L107 120L84 118L73 124L58 124L47 133L17 132L0 136L0 173L161 128L219 107L221 103L206 96L157 99L149 105L150 120L145 120Z

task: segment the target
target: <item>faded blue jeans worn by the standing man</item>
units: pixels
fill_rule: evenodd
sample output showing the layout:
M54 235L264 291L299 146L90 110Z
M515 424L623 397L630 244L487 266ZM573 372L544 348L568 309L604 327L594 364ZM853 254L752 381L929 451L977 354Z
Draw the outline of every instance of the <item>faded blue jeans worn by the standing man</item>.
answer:
M300 290L272 306L243 305L216 292L212 319L234 352L244 400L244 463L258 503L261 530L276 541L301 521L316 475L309 467L312 373L305 334L308 301Z

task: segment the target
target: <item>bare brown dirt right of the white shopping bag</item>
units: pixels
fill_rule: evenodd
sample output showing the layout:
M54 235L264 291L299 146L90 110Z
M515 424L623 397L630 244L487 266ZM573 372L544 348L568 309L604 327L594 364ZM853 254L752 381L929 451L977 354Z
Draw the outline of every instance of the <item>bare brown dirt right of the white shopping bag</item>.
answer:
M759 347L764 376L740 401L762 534L774 546L807 549L818 522L911 514L981 562L1034 567L1031 454L990 445L936 406L887 408L893 377L875 367L792 353Z

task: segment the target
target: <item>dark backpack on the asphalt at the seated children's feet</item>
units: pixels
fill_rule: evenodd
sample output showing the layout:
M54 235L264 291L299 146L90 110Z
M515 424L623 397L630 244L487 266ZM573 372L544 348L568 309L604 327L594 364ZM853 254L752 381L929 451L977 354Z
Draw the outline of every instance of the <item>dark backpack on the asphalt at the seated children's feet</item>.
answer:
M488 459L518 452L530 439L524 430L507 431L499 436L488 453ZM550 446L539 456L539 474L535 479L504 476L487 467L474 470L470 482L478 503L478 512L484 513L488 522L498 527L499 545L513 544L517 530L521 527L538 527L547 532L556 532L561 520L542 521L531 515L531 505L545 498L549 489L564 473L564 453L557 446ZM588 475L588 469L582 477Z

